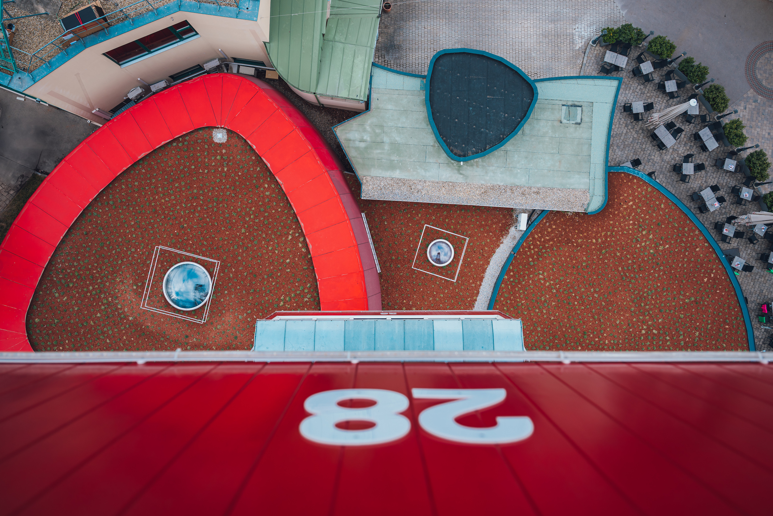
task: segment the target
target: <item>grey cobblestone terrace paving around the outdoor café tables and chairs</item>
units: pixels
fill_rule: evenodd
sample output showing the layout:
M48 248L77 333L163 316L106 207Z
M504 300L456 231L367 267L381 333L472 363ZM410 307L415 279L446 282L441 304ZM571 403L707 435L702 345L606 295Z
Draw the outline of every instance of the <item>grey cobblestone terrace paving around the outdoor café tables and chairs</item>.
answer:
M585 73L587 75L595 74L601 68L601 62L604 57L606 49L597 47L591 49L591 53L588 55L588 61L586 65ZM730 193L730 189L743 181L744 176L740 173L728 173L724 169L719 169L714 166L714 162L717 158L724 158L727 151L731 148L721 145L711 152L702 152L698 148L698 143L693 140L693 133L703 128L702 124L687 124L684 116L676 118L676 123L679 127L683 128L685 132L682 138L677 140L670 149L659 151L652 142L652 138L649 137L651 130L645 127L645 122L633 121L631 115L623 113L622 107L626 102L633 101L652 101L655 103L655 111L663 111L665 108L669 108L673 105L683 103L687 101L690 94L693 93L691 86L685 87L680 91L681 98L669 99L662 91L657 89L657 84L662 78L662 75L666 73L668 68L655 71L656 80L645 84L641 78L633 77L631 70L633 69L635 62L635 56L638 55L637 48L633 48L629 54L628 66L625 67L625 71L615 73L616 76L623 78L623 83L618 97L618 105L615 110L615 120L612 123L612 135L611 145L609 150L609 165L620 166L631 159L641 159L642 166L638 169L642 172L649 173L656 171L656 177L663 186L666 186L671 192L673 192L680 200L683 201L688 207L693 208L693 213L696 214L698 219L704 226L710 231L711 234L716 234L713 230L715 222L722 221L724 223L725 217L730 215L740 216L752 211L760 210L757 203L750 204L748 207L741 207L735 204L733 201L737 196L733 196ZM751 94L754 94L751 91ZM747 96L744 96L746 99ZM759 98L759 97L758 97ZM741 99L743 101L744 99ZM764 99L761 99L764 101ZM739 102L741 102L739 101ZM744 124L749 125L746 134L749 135L749 142L746 145L752 145L754 138L760 138L760 148L768 154L771 154L770 147L770 125L771 125L771 102L768 104L762 102L754 102L751 99L747 101L746 111L741 112L739 108L739 115L744 116ZM706 113L703 105L700 105L701 114ZM768 111L764 111L767 109ZM768 113L768 119L764 120L765 112ZM747 118L749 117L749 118ZM754 118L758 117L758 118ZM724 119L724 121L730 120L730 117ZM754 122L754 123L753 123ZM767 129L766 129L767 128ZM755 132L757 131L757 132ZM767 131L767 140L764 140L763 136ZM764 142L767 142L765 144ZM767 146L766 146L767 145ZM673 172L673 165L682 161L683 155L695 154L693 162L706 164L706 170L700 173L696 173L693 176L689 184L679 182L679 174ZM746 152L744 152L744 155ZM703 190L707 186L716 184L720 186L720 193L727 198L727 203L724 203L719 210L708 214L698 214L698 203L693 203L690 200L690 194L696 191ZM615 202L614 199L609 199L608 203ZM748 234L748 232L747 232ZM717 235L718 236L718 235ZM757 322L757 316L759 313L758 306L761 302L771 299L769 293L773 289L773 274L768 273L764 269L764 263L758 261L758 253L767 251L770 248L768 241L761 239L757 244L750 244L746 239L734 239L731 244L725 244L719 241L720 248L740 248L741 257L748 263L754 265L753 272L741 272L739 273L738 280L741 283L741 289L744 291L744 296L747 298L747 305L749 307L749 313L752 319L752 326L754 327L754 340L757 343L758 350L773 350L773 347L764 345L773 333L771 330L764 330ZM773 325L771 325L773 326Z

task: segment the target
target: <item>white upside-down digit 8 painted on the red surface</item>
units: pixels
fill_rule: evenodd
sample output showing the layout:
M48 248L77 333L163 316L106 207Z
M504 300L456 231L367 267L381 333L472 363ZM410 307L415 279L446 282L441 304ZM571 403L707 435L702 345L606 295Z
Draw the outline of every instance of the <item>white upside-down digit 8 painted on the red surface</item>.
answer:
M376 405L346 408L338 403L346 399L369 399ZM363 446L389 443L410 432L410 420L399 412L408 408L408 398L384 389L338 389L318 392L306 398L303 407L312 415L301 422L301 436L320 444ZM365 430L342 430L336 423L369 421L376 423Z

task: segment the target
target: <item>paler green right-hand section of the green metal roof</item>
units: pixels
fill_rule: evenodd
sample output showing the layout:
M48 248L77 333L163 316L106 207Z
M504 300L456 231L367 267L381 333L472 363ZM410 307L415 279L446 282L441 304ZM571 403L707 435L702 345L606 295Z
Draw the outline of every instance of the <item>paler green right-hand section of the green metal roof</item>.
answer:
M322 43L316 93L360 101L367 98L378 28L376 17L330 16Z

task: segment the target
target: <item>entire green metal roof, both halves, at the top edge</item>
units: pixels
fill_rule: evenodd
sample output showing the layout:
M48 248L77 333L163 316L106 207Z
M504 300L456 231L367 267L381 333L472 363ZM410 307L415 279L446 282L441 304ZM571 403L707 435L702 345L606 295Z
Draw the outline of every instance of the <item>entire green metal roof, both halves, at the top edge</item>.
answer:
M268 56L281 77L308 93L363 101L379 26L372 0L274 0ZM304 13L304 14L301 14Z

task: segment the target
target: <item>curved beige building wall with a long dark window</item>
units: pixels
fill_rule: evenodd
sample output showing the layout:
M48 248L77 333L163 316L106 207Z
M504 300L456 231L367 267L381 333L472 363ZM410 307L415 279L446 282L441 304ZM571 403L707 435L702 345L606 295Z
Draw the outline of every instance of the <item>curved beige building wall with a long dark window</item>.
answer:
M102 55L108 50L185 19L201 37L124 68ZM145 87L138 78L148 84L169 80L170 73L177 73L221 57L218 49L222 49L229 57L263 61L267 66L271 66L268 64L270 60L263 44L268 41L268 34L264 33L261 25L264 24L252 20L175 12L174 15L165 16L121 36L88 47L27 88L25 93L97 124L103 124L105 119L91 111L97 108L107 111L120 104L131 88Z

